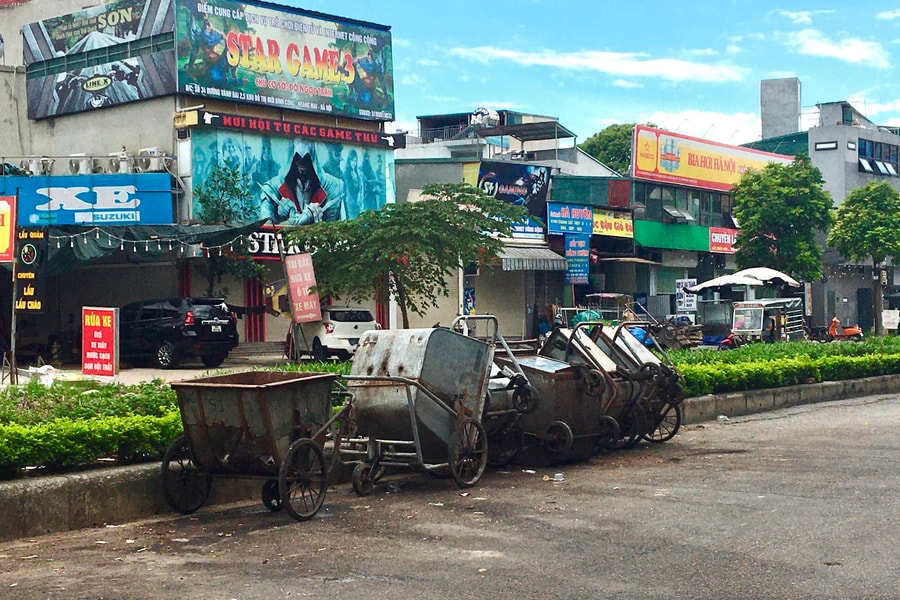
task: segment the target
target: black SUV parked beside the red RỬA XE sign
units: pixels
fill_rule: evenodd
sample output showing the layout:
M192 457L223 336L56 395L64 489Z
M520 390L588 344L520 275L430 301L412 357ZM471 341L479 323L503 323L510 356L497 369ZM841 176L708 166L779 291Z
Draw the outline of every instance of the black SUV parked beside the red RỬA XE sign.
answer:
M188 357L208 368L237 346L237 318L222 298L163 298L132 302L119 311L122 358L152 360L172 369Z

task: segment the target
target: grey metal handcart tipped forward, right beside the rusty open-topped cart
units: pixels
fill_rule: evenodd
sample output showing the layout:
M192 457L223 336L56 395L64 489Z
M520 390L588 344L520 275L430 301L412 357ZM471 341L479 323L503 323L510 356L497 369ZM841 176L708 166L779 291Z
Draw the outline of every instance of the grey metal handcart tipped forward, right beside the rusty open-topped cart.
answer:
M451 329L364 333L345 378L358 437L340 449L359 460L354 491L371 493L386 467L475 485L487 464L481 416L493 355L492 344Z

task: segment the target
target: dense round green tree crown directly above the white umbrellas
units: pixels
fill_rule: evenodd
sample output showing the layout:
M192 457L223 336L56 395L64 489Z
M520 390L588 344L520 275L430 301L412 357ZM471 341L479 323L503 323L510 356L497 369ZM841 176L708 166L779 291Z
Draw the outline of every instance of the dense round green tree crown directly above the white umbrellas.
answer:
M821 277L816 234L832 223L831 195L823 183L822 172L806 155L745 173L732 189L741 227L738 267L771 267L805 281Z

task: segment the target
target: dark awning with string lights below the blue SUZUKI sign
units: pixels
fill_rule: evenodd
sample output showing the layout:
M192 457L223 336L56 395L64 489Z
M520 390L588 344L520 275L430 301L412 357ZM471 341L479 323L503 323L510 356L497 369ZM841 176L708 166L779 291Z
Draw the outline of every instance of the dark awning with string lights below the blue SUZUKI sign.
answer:
M51 225L47 229L47 275L77 269L84 263L128 252L140 260L158 260L188 246L225 247L267 221L242 225ZM11 265L7 265L11 267Z

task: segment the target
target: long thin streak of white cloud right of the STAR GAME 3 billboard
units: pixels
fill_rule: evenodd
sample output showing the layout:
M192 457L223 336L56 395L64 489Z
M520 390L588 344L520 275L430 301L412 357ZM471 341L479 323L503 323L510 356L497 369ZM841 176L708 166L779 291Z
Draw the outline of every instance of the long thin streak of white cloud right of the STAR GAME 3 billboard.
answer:
M482 63L507 61L523 66L545 66L554 69L589 70L628 77L659 77L669 81L703 81L726 83L742 81L750 70L728 62L704 64L673 58L649 58L632 52L559 53L552 50L518 52L493 46L452 48L450 54Z

